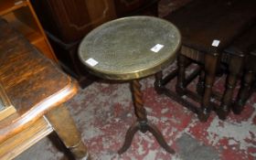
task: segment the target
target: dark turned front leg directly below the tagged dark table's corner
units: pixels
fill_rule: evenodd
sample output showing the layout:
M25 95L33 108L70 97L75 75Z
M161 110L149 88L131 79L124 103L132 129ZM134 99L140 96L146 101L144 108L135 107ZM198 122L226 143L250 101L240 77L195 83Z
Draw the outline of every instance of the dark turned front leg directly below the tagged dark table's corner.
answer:
M217 69L217 64L219 59L219 54L205 54L205 71L206 71L206 80L205 80L205 91L203 95L203 100L201 103L201 111L198 112L198 119L201 122L206 122L208 120L209 113L211 112L210 107L210 98L212 94L212 86L215 80L215 74Z

